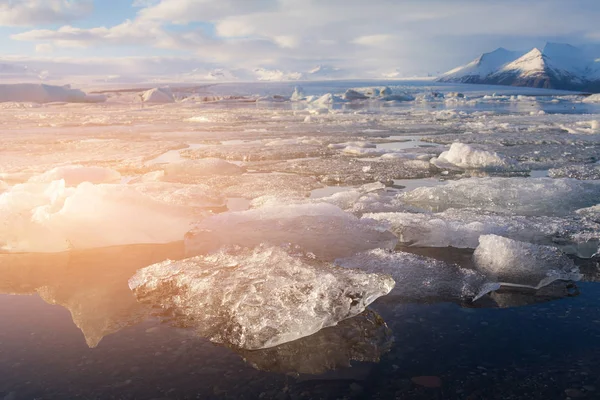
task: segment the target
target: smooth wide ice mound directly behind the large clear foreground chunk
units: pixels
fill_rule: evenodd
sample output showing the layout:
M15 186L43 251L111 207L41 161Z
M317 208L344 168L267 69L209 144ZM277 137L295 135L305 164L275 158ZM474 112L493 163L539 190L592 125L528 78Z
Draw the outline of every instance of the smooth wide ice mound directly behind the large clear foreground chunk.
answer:
M299 246L319 259L332 261L378 247L393 249L397 241L381 224L359 220L332 204L270 203L200 221L186 237L186 251L195 255L224 245L269 243Z

